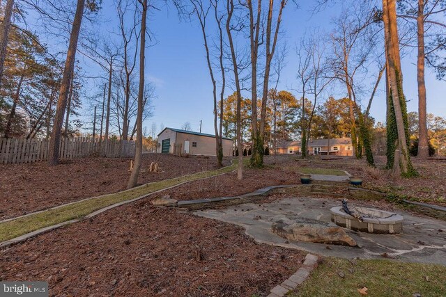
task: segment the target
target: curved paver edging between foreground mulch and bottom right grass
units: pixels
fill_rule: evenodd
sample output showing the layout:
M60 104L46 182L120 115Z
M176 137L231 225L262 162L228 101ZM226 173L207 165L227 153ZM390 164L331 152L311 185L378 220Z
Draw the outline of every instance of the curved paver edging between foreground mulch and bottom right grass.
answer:
M314 268L318 266L318 259L316 255L307 254L305 256L304 266L300 267L287 280L284 280L282 284L277 284L276 287L272 288L267 297L283 297L289 294L290 291L297 289L309 277Z

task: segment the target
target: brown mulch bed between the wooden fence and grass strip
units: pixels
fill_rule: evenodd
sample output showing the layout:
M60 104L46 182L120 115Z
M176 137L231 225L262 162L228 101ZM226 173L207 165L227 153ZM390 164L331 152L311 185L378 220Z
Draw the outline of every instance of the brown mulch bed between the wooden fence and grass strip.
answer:
M151 162L162 173L150 173ZM229 165L229 160L225 160ZM169 154L144 154L139 184L214 170L215 158ZM0 165L0 220L60 204L116 193L125 189L130 177L130 159L84 158L63 161L59 166L45 162Z

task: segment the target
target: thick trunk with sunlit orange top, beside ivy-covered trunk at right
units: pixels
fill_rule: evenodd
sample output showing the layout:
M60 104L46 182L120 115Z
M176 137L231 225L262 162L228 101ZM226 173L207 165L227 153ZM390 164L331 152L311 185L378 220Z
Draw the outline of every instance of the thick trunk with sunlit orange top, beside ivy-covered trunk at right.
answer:
M408 152L408 142L406 139L406 129L403 120L403 109L401 101L404 101L401 59L399 56L399 41L397 29L397 10L395 0L383 0L383 21L385 33L385 47L387 49L387 62L389 66L390 92L392 93L392 103L394 116L397 122L398 145L401 151L399 154L399 167L401 175L410 176L416 174L413 170ZM394 161L394 163L397 161Z

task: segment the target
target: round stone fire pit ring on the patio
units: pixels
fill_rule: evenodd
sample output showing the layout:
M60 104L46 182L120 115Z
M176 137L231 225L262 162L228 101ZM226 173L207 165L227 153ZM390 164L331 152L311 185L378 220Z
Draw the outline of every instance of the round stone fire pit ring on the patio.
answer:
M357 218L346 214L340 206L330 209L332 222L341 227L367 233L397 234L403 231L403 216L399 214L366 207L357 207L357 210L362 214L369 215L370 218L364 217L361 222Z

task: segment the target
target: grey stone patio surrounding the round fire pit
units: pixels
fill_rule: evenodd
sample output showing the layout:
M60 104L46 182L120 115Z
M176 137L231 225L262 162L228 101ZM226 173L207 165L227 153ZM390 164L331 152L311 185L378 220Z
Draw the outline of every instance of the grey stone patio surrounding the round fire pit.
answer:
M268 204L240 204L225 209L195 211L194 214L240 225L246 234L260 243L307 250L318 255L346 259L389 257L406 262L446 265L446 222L414 216L406 211L395 211L404 217L401 234L369 234L344 229L355 239L358 247L291 242L271 232L272 223L279 219L308 218L335 226L330 220L330 208L339 204L340 200L327 198L286 198Z

